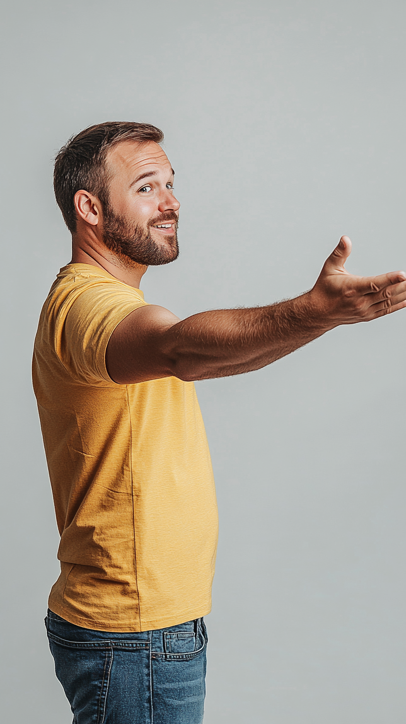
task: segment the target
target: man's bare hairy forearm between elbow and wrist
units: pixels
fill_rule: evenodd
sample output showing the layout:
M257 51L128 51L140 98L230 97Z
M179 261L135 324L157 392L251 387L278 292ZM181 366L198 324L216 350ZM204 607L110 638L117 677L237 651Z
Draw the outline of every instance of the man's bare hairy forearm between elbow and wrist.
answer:
M170 327L162 346L175 376L208 379L260 369L332 327L307 292L266 307L196 314Z

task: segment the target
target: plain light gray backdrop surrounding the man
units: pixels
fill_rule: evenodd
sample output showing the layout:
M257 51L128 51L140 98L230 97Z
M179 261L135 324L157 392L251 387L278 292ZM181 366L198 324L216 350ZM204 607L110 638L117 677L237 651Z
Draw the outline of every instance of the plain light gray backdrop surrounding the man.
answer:
M165 131L180 316L406 267L403 2L4 3L1 717L67 724L42 618L58 536L30 355L70 238L54 153L104 120ZM220 508L205 724L405 722L405 322L342 327L199 383ZM168 723L169 724L169 723Z

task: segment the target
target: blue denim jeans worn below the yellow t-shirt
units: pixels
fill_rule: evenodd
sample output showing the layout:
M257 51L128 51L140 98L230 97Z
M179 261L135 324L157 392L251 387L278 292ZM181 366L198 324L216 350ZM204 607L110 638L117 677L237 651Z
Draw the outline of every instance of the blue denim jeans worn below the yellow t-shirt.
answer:
M45 623L73 724L202 723L202 618L142 633L91 631L52 611Z

